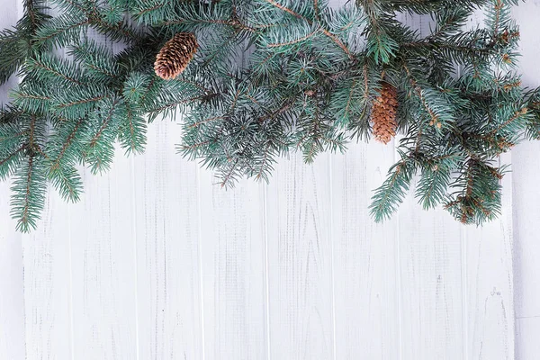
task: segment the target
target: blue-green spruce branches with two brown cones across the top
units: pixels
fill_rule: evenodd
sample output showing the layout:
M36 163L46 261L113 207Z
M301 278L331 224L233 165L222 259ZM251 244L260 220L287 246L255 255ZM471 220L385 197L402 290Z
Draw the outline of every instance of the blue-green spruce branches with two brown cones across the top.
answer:
M142 152L148 121L178 113L179 152L223 186L267 180L289 151L311 162L397 133L375 220L415 179L426 209L491 220L499 155L540 137L540 94L516 73L517 2L25 0L0 32L0 82L21 79L0 112L0 180L13 179L18 228L35 227L48 184L76 202L80 166L106 171L117 142ZM466 29L479 9L486 22ZM428 34L402 14L429 16Z

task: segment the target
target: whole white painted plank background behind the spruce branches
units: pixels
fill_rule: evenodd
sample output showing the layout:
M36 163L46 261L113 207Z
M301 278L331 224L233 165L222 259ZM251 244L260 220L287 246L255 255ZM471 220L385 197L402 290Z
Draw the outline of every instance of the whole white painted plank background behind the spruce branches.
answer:
M13 24L17 0L0 3ZM540 85L540 0L514 13ZM224 191L175 155L179 130L150 124L146 154L85 172L79 203L49 191L30 235L0 183L0 360L539 357L540 143L511 154L503 214L478 229L412 196L374 224L392 145L292 155Z

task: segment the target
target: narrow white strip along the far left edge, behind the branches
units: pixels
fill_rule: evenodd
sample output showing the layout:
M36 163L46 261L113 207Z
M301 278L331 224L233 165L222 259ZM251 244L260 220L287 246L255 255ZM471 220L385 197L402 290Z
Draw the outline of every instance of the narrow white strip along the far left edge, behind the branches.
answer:
M4 0L0 13L0 29L14 26L22 11L17 0ZM0 104L7 103L8 91L16 85L16 78L0 86ZM0 183L0 354L7 359L23 359L24 298L23 247L21 234L15 232L16 223L9 215L10 182Z

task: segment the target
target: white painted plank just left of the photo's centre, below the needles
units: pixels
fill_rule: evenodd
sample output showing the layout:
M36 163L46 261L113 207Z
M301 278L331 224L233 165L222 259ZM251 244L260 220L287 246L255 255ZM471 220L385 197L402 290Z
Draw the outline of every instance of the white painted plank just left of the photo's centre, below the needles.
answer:
M217 182L200 171L205 358L265 359L264 185Z

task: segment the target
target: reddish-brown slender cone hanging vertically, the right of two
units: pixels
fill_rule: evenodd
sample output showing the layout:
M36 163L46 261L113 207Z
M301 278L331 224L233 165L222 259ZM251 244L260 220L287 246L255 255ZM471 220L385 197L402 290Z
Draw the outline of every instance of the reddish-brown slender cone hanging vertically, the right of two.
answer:
M398 123L396 112L398 110L398 91L386 82L383 82L381 94L374 101L371 121L373 134L377 141L388 144L396 135Z

